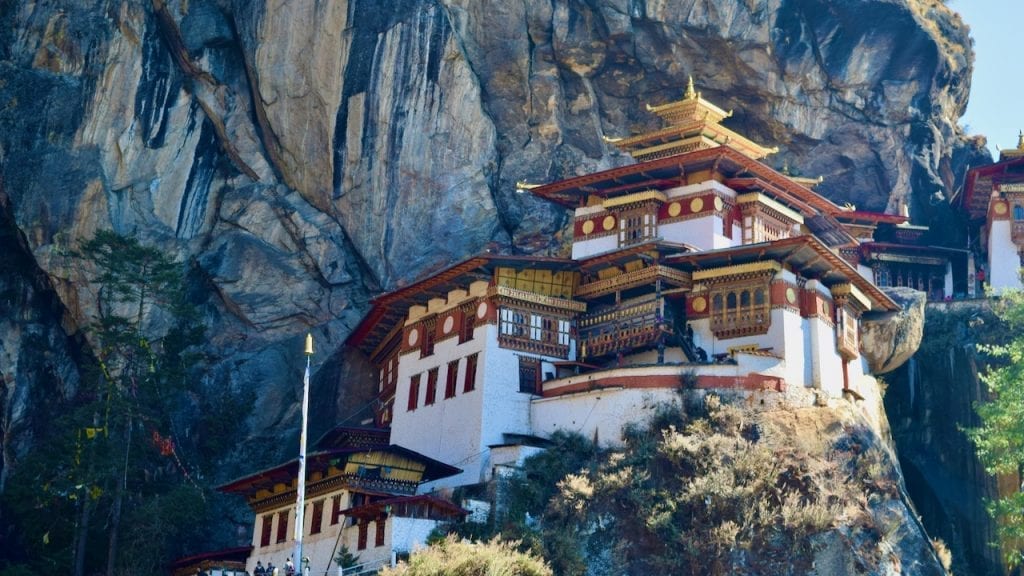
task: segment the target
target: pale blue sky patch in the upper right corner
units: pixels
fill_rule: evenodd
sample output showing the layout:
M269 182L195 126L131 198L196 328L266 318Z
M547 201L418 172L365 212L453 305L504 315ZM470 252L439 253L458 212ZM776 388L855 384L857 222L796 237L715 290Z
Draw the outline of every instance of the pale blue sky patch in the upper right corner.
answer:
M1024 0L952 0L974 38L971 100L961 124L988 148L1016 148L1024 129Z

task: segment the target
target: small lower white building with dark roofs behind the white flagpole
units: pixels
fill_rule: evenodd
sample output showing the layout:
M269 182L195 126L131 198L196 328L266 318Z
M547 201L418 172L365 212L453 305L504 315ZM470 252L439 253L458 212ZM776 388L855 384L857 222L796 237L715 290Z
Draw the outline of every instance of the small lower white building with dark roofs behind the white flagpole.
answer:
M307 455L302 549L310 574L337 574L335 559L343 549L368 570L390 564L422 546L438 524L466 513L447 500L416 493L422 483L460 470L389 444L388 436L386 429L340 427ZM298 468L296 459L219 488L245 497L255 512L244 565L249 574L257 562L283 570L294 552Z

